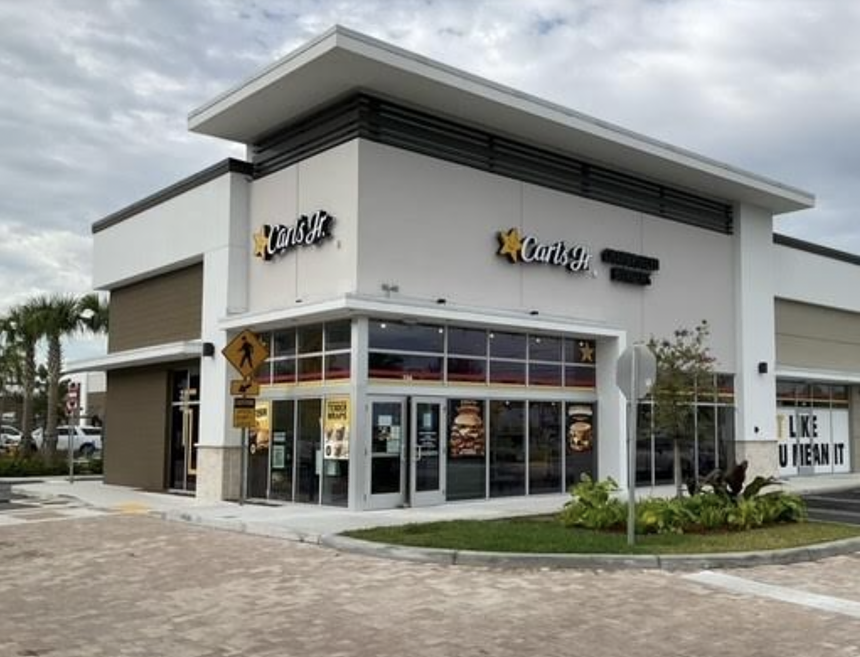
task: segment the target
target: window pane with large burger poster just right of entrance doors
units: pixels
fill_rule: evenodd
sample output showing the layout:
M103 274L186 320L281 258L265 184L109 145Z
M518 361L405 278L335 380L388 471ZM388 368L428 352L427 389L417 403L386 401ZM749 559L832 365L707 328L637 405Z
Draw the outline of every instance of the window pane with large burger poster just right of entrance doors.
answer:
M447 499L486 497L484 402L448 400Z

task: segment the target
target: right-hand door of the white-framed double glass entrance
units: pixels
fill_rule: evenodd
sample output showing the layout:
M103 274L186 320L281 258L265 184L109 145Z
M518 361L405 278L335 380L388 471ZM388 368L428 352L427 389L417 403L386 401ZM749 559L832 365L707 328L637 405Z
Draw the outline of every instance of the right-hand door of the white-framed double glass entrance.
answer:
M410 425L410 504L442 504L445 501L445 402L413 398Z

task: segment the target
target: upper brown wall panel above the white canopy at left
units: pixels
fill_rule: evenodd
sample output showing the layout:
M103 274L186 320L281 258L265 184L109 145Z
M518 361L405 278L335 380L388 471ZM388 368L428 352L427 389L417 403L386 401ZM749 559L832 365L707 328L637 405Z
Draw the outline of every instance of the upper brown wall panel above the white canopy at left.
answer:
M200 337L203 265L111 291L108 352Z

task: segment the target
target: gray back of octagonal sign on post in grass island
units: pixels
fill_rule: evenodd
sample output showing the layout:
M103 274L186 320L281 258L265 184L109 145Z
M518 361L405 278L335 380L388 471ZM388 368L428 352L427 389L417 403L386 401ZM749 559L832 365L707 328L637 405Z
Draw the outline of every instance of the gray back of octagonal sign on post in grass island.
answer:
M636 405L657 378L657 359L644 344L627 347L618 357L615 382L627 398L627 544L636 541Z

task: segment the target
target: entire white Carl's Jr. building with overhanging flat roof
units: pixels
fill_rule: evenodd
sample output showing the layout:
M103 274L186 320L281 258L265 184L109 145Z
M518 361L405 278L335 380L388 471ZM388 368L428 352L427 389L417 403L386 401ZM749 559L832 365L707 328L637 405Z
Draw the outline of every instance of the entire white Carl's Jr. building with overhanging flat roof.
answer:
M252 498L625 481L615 361L702 320L720 374L685 476L857 469L860 258L772 229L810 194L343 28L189 127L248 161L93 226L109 353L78 368L108 372L108 482L239 494L220 352L244 329L269 352ZM641 417L639 481L665 481Z

